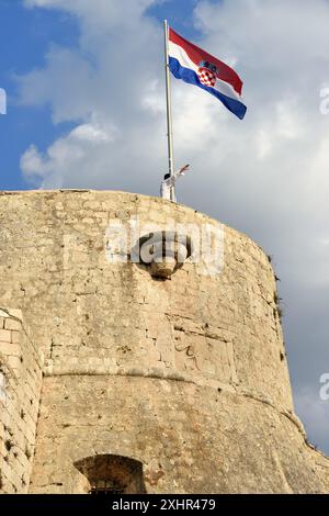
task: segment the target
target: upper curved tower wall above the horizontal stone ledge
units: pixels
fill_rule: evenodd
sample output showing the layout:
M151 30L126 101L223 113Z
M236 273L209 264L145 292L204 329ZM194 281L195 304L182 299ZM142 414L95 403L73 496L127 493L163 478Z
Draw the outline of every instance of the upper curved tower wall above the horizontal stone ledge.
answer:
M171 281L110 263L110 221L224 232L224 269L188 260ZM121 192L0 195L0 301L22 307L54 373L138 367L266 397L292 411L276 284L247 236L185 206ZM219 259L220 257L218 257Z

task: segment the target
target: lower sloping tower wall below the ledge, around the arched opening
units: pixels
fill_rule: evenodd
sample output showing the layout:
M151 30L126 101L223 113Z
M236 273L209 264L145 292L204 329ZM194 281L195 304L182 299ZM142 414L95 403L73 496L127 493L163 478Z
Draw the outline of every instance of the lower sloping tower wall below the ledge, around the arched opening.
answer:
M32 493L87 493L75 464L107 453L140 461L147 493L328 492L328 459L260 400L141 375L47 377L43 392Z

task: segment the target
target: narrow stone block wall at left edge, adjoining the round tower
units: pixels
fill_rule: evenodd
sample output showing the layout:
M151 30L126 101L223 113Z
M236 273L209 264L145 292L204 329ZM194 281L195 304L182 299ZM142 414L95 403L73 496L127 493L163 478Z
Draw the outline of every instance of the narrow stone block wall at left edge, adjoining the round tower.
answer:
M26 493L35 448L42 356L20 310L0 310L0 493Z

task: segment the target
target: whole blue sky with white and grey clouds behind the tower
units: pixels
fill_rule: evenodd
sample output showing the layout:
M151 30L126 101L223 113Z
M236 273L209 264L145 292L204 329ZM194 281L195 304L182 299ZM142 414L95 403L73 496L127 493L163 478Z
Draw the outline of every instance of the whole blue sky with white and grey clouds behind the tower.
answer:
M328 0L0 0L0 190L156 195L167 167L161 21L242 74L243 122L174 81L179 200L274 256L298 414L329 452ZM106 8L104 7L106 5ZM112 10L112 5L114 5ZM116 9L115 9L116 5ZM294 20L294 23L292 23Z

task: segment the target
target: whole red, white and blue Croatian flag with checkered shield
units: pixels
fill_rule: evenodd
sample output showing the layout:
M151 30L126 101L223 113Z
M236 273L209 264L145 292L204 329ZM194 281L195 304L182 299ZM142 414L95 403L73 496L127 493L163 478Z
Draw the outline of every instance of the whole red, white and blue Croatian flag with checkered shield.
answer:
M235 115L243 119L247 111L241 101L243 82L235 70L188 42L170 27L169 68L177 79L208 91Z

